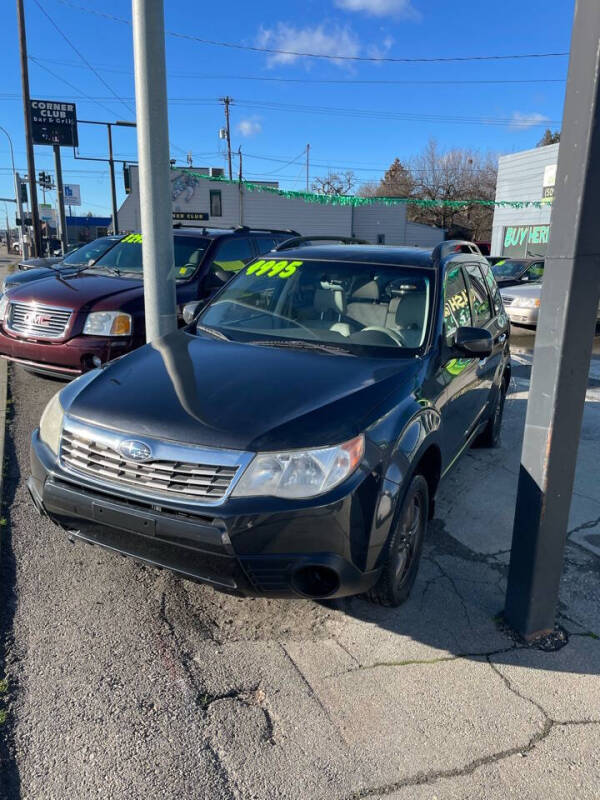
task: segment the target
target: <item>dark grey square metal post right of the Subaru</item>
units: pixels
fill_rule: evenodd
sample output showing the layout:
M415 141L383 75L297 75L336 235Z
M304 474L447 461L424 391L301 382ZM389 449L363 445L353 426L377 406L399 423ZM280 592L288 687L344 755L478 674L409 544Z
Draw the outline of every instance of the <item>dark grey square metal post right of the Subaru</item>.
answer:
M600 3L575 5L506 592L507 622L551 631L600 297Z

